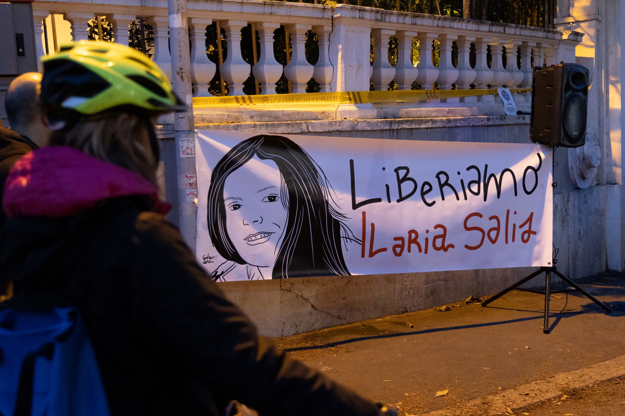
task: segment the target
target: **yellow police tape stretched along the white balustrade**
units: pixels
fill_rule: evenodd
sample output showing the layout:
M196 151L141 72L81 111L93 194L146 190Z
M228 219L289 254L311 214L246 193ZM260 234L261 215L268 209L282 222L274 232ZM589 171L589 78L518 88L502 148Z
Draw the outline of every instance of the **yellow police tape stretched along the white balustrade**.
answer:
M512 88L510 92L529 89ZM339 104L404 104L429 99L472 97L497 94L496 89L419 89L409 91L306 92L303 94L269 94L259 96L194 97L194 109L222 107L337 106ZM294 106L294 107L285 107Z

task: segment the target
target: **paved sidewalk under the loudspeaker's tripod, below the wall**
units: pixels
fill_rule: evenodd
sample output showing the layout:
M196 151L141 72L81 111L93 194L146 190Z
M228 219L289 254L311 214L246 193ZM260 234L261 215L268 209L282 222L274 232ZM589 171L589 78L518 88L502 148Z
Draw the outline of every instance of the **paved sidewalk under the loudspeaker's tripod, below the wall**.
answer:
M361 394L397 405L402 416L446 407L455 409L453 414L503 415L510 402L506 390L516 392L509 389L625 354L625 275L607 274L581 284L614 305L614 312L604 314L579 292L569 292L568 299L554 294L551 334L542 333L544 295L514 291L487 307L459 302L447 312L427 309L275 341ZM557 289L561 283L553 279L552 290ZM559 314L566 301L566 313ZM611 377L625 374L605 365ZM571 374L571 379L586 380L586 373ZM434 398L444 390L446 395ZM524 396L515 408L547 398L536 392L515 394ZM501 405L471 402L489 395L501 395Z

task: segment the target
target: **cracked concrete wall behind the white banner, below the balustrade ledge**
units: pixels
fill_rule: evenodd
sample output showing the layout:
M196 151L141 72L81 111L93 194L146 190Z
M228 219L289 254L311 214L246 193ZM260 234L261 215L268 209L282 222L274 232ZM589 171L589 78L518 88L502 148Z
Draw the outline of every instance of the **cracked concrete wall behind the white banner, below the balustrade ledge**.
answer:
M377 122L384 124L384 121ZM339 125L344 127L344 124ZM224 129L237 129L236 126L229 126L224 126ZM517 143L526 143L529 136L527 124L362 130L340 130L332 129L331 124L328 126L327 131L314 134L375 139ZM554 191L554 244L559 249L557 267L571 279L579 279L607 268L606 216L610 215L607 208L609 189L607 186L593 186L572 190L571 179L567 174L566 152L559 152L559 155L556 152L559 165L555 179L558 187ZM305 277L224 282L219 285L251 317L261 334L281 337L427 309L457 302L469 295L494 294L534 270L525 267ZM541 275L528 285L539 287L544 283L543 279ZM554 285L559 285L559 282L554 281Z

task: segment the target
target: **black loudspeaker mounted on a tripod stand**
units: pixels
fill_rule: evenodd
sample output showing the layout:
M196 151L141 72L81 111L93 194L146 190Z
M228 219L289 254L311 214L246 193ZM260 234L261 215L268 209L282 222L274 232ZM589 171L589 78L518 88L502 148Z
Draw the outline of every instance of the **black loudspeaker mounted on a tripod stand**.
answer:
M586 67L560 63L535 68L529 139L548 146L584 146L587 106Z

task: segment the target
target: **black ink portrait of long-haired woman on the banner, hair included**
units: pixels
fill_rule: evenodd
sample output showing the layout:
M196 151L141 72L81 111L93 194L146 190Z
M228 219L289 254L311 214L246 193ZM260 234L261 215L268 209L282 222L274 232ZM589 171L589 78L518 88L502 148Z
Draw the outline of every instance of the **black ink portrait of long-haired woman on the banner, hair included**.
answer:
M215 280L349 275L347 243L360 244L339 212L324 172L295 142L251 137L212 170L208 231L225 259Z

